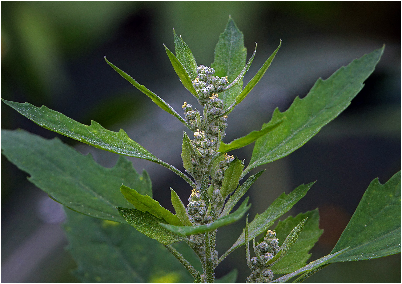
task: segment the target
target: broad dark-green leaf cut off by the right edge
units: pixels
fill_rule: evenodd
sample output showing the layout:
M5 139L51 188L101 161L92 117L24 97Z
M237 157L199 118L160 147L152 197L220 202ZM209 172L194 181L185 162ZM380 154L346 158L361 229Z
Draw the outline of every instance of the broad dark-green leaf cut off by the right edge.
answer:
M401 251L401 172L373 180L332 251L349 247L330 262L373 259Z

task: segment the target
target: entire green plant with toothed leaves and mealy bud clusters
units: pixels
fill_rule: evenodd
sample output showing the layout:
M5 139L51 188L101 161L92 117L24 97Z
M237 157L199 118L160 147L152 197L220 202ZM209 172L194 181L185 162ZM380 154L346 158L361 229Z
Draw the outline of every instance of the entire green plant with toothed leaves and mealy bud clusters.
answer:
M98 218L66 210L65 229L69 250L78 264L75 271L78 278L84 282L209 283L215 281L215 268L234 249L245 245L250 268L246 282L285 282L297 276L295 282L301 282L334 262L400 252L400 172L385 184L380 184L378 179L369 184L334 249L309 264L306 264L310 257L308 251L322 233L318 228L318 210L288 217L280 221L275 230L269 227L300 200L314 182L281 194L250 223L247 215L245 229L232 247L222 254L215 250L217 229L244 217L251 206L248 198L232 211L263 171L240 184L242 178L255 167L295 151L345 110L363 88L363 82L373 72L384 50L382 47L355 59L326 80L318 79L307 96L296 97L288 110L275 109L271 121L261 130L230 143L222 142L230 112L263 77L279 47L243 88L242 79L256 51L246 63L243 34L231 18L219 37L211 67L197 65L190 48L174 33L176 55L165 46L166 53L183 86L202 107L200 111L184 102L184 118L105 57L123 78L191 131L191 135L183 132L181 153L187 174L152 155L123 130L109 131L94 121L89 126L83 125L46 106L37 108L29 103L3 100L46 129L100 149L159 163L189 184L187 206L170 188L176 211L173 214L152 198L147 172L137 174L123 157L114 168L103 168L91 155L84 156L59 139L47 140L22 130L2 130L3 154L29 173L31 182L66 207ZM254 141L247 166L229 154ZM141 233L156 239L167 250ZM263 237L256 241L262 233ZM250 253L250 241L254 253ZM172 261L173 256L178 262ZM274 279L275 274L283 276ZM218 281L236 281L236 271Z

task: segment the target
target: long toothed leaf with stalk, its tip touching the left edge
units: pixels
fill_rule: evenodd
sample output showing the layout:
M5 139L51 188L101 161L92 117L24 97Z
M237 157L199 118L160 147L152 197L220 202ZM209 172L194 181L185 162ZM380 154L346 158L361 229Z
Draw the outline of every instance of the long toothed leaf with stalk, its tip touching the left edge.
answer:
M180 170L176 169L172 165L162 161L161 159L158 159L152 155L150 151L139 145L137 142L131 140L123 129L120 129L119 132L110 131L103 128L95 121L91 121L91 125L84 125L78 121L75 121L74 119L70 119L60 112L51 110L46 106L41 106L38 108L28 102L19 103L4 99L2 100L5 104L11 106L23 116L27 117L41 127L65 135L72 139L76 139L99 149L153 161L175 172L186 180L191 186L195 187L194 182L188 176L180 172Z

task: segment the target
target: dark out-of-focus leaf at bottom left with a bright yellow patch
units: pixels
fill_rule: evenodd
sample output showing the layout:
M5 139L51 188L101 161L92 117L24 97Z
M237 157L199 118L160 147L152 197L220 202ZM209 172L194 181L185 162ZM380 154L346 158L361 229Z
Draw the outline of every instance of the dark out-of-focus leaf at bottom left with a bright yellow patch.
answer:
M66 214L67 249L78 265L73 274L83 283L146 283L158 278L192 281L189 272L160 243L131 226L68 209Z

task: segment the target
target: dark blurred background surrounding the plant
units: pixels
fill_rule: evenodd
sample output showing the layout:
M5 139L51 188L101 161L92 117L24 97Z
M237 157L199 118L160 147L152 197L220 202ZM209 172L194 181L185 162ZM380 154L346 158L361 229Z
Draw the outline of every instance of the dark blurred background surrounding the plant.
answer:
M219 34L230 14L256 58L248 82L282 39L282 47L252 93L229 116L225 141L259 129L276 106L286 110L295 96L308 93L318 77L381 47L386 49L366 86L351 106L306 145L268 170L250 189L250 218L283 191L317 180L289 214L320 208L324 234L310 260L329 253L376 177L386 182L400 170L400 7L398 1L374 2L1 2L1 96L42 104L67 116L97 121L129 136L157 157L182 169L183 126L121 78L103 56L176 110L196 104L174 73L162 43L174 47L172 28L182 35L198 64L210 65ZM43 129L1 104L2 128L23 128L46 138ZM60 137L107 167L117 155ZM232 154L250 159L252 146ZM154 198L166 208L169 186L182 200L191 188L160 165L133 159L152 179ZM26 174L4 157L1 162L2 282L76 282L75 264L64 251L59 204L31 185ZM256 169L261 170L261 169ZM281 217L283 220L286 216ZM244 220L218 232L217 250L237 239ZM311 282L400 282L400 255L332 264ZM216 270L234 267L238 282L250 271L238 249Z

